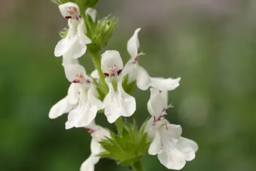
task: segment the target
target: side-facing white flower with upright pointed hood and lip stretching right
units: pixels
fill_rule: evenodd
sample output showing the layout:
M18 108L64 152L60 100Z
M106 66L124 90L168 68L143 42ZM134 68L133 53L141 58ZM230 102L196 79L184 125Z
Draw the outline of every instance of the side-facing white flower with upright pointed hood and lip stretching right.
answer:
M139 53L139 39L138 33L140 28L136 29L134 35L127 42L127 51L131 56L131 59L126 63L123 69L123 75L128 74L128 83L136 80L136 85L139 89L146 90L149 87L160 89L161 91L170 91L177 88L180 84L180 79L164 79L164 78L152 78L148 72L139 66L138 59L143 53Z

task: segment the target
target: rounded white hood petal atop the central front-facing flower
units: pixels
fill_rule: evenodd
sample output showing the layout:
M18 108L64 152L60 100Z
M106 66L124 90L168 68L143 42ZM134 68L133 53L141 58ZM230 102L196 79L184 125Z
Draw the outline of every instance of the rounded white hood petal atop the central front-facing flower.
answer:
M101 55L101 70L104 73L109 73L109 66L114 65L116 65L115 71L123 69L123 61L120 53L116 50L106 50L106 52Z

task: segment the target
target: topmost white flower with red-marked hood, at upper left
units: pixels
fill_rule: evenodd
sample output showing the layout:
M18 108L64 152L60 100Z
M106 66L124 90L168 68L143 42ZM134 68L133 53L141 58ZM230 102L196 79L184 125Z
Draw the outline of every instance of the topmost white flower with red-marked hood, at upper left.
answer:
M79 7L75 3L65 3L59 6L61 14L69 18L69 32L67 36L56 45L54 55L60 57L65 55L68 58L79 58L86 53L87 44L92 41L86 36L86 27L83 19L80 18Z

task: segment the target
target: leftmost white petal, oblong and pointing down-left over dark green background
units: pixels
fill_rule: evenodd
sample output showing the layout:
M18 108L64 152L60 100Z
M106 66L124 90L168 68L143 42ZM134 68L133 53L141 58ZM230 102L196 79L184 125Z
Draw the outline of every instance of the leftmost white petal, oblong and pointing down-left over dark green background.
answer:
M64 113L69 113L72 109L72 106L67 101L67 97L58 101L57 104L53 105L49 112L49 118L55 119L59 116L62 116Z

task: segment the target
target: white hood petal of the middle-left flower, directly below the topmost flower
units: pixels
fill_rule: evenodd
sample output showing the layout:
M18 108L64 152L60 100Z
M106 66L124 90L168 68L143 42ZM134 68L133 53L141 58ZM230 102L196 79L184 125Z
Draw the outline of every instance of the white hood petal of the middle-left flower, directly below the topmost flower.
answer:
M65 74L66 74L66 78L70 82L73 82L75 79L75 75L86 76L86 69L84 69L84 67L79 64L69 65L69 66L65 66Z

